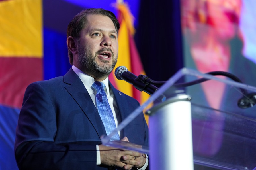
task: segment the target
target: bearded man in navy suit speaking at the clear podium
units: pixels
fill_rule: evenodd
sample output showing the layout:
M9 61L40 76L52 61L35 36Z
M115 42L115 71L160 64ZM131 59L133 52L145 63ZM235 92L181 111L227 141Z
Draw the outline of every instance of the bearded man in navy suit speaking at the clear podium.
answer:
M15 140L19 169L148 169L146 154L100 140L139 106L108 81L117 61L119 27L115 15L103 9L84 10L69 23L72 68L26 89ZM143 113L112 140L148 145Z

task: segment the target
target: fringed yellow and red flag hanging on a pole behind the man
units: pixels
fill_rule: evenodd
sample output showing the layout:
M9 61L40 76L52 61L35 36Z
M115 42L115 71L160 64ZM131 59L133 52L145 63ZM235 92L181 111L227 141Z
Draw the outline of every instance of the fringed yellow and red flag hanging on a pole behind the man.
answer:
M117 10L117 18L120 23L120 29L118 34L119 49L116 67L123 65L130 72L134 73L137 76L140 74L145 75L142 63L140 61L139 53L133 39L133 35L135 33L135 29L133 26L133 16L127 5L125 5L124 3L118 3ZM116 69L116 67L114 68L114 70ZM140 92L124 80L117 80L116 78L114 78L114 71L112 71L112 73L110 74L109 79L117 89L137 99L140 104L144 103L144 101L149 98L149 95L147 93ZM148 122L147 117L146 121Z

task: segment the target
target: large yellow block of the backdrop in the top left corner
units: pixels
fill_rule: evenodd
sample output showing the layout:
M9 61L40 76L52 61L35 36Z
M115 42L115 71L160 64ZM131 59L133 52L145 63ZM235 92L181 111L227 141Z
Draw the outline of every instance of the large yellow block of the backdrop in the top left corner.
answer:
M0 2L0 56L42 58L42 0Z

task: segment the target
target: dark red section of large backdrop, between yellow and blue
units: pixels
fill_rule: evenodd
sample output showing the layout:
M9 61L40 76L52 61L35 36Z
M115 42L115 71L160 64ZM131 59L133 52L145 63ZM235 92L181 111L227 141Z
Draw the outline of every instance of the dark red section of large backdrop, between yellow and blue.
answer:
M43 79L42 58L0 57L0 103L21 108L26 87Z

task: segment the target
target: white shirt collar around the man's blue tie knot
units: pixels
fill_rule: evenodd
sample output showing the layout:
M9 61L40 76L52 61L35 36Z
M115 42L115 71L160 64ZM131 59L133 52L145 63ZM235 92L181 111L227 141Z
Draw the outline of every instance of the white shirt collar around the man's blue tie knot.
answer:
M85 88L87 89L87 91L89 89L93 89L91 88L91 86L93 85L93 83L95 82L94 78L87 75L86 73L84 73L83 71L81 71L80 69L78 69L77 67L75 67L74 65L72 65L72 69L73 71L79 76L79 78L81 79L81 81L83 82ZM105 92L108 95L109 94L109 87L108 87L108 77L101 81L105 84Z

